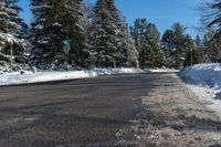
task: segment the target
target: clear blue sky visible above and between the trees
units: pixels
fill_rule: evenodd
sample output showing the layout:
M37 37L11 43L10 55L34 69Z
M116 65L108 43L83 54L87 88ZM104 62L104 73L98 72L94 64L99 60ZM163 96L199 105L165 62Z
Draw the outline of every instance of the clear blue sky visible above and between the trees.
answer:
M30 0L20 0L19 4L24 9L21 15L27 22L31 22ZM95 0L86 0L95 2ZM200 13L194 11L196 6L202 0L116 0L116 4L126 17L129 24L137 18L146 18L154 22L162 33L172 23L180 22L188 28L187 32L196 35L194 27L199 25Z

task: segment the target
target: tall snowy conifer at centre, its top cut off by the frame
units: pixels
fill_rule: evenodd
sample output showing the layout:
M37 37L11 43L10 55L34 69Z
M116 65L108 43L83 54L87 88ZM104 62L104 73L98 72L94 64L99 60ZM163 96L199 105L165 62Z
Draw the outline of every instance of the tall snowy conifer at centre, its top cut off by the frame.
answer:
M125 24L113 0L98 0L92 20L96 66L116 67L125 63Z

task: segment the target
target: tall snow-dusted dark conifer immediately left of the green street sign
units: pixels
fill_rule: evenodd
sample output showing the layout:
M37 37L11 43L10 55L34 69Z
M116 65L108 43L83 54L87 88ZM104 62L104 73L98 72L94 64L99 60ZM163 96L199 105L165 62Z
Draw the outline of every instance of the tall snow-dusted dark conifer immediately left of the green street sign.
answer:
M46 0L32 0L32 13L34 21L31 24L32 30L32 50L30 62L31 65L41 69L49 69L53 62L56 44L57 32L61 31L61 24L56 23L53 27L52 11L53 3ZM60 45L60 50L61 50Z

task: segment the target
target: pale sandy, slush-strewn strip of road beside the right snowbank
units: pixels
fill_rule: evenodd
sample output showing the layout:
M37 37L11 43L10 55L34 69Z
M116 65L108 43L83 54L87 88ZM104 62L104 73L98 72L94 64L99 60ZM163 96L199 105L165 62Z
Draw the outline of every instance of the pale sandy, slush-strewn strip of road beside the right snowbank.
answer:
M161 74L143 97L144 111L130 129L137 146L220 146L221 123L175 74ZM126 130L122 130L126 132Z

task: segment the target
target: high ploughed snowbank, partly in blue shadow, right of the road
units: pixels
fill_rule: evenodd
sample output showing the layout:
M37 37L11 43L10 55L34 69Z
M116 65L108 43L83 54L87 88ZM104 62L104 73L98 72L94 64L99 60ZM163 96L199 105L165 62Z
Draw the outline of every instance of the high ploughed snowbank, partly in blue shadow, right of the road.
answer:
M221 64L198 64L187 67L180 75L188 83L186 86L221 118Z

